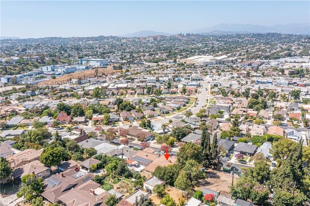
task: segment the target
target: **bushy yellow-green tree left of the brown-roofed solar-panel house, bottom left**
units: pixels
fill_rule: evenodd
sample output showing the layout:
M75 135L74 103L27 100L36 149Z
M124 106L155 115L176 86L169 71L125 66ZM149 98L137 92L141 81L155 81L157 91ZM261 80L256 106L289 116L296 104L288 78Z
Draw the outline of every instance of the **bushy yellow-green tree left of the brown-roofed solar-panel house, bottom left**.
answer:
M21 188L16 193L16 196L24 197L26 200L31 201L41 192L43 192L43 179L39 177L38 179L35 175L25 175L21 178Z

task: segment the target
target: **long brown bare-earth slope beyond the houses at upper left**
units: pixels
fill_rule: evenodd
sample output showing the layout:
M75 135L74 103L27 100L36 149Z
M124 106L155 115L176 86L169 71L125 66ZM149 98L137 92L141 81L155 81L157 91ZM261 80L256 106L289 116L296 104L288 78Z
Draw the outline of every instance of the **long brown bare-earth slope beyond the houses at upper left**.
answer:
M68 82L68 79L71 77L72 79L78 79L78 77L81 77L82 80L93 78L95 75L95 70L88 70L88 71L82 71L82 72L75 72L71 74L65 74L61 77L57 77L56 79L49 79L44 82L40 82L39 85L59 85L59 84L65 84ZM98 76L103 76L102 73L105 74L114 74L120 71L113 70L111 66L108 66L108 68L99 68L98 69Z

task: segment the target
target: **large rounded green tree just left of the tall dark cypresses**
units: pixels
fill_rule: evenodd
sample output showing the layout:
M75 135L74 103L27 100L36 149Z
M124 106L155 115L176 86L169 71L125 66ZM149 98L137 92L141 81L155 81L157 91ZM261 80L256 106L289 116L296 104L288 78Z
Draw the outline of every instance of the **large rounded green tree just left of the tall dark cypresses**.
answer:
M202 147L192 142L184 144L177 153L177 162L185 165L188 160L201 162Z

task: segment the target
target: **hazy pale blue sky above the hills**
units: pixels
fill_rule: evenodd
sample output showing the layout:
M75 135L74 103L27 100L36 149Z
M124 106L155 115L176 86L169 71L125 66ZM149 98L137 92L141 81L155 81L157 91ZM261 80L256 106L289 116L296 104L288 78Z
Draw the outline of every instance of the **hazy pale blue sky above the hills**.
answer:
M124 35L140 30L189 32L220 23L310 23L310 1L0 1L2 37Z

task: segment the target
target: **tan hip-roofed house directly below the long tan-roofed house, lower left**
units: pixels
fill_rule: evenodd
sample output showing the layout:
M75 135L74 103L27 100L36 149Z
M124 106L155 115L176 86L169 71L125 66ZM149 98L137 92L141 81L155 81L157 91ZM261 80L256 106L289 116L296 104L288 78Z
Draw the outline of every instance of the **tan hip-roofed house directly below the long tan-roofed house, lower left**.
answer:
M47 177L50 175L50 169L42 164L40 161L35 160L33 162L29 162L21 167L15 168L12 173L12 177L14 179L21 178L25 175L35 175L35 178L39 177Z

